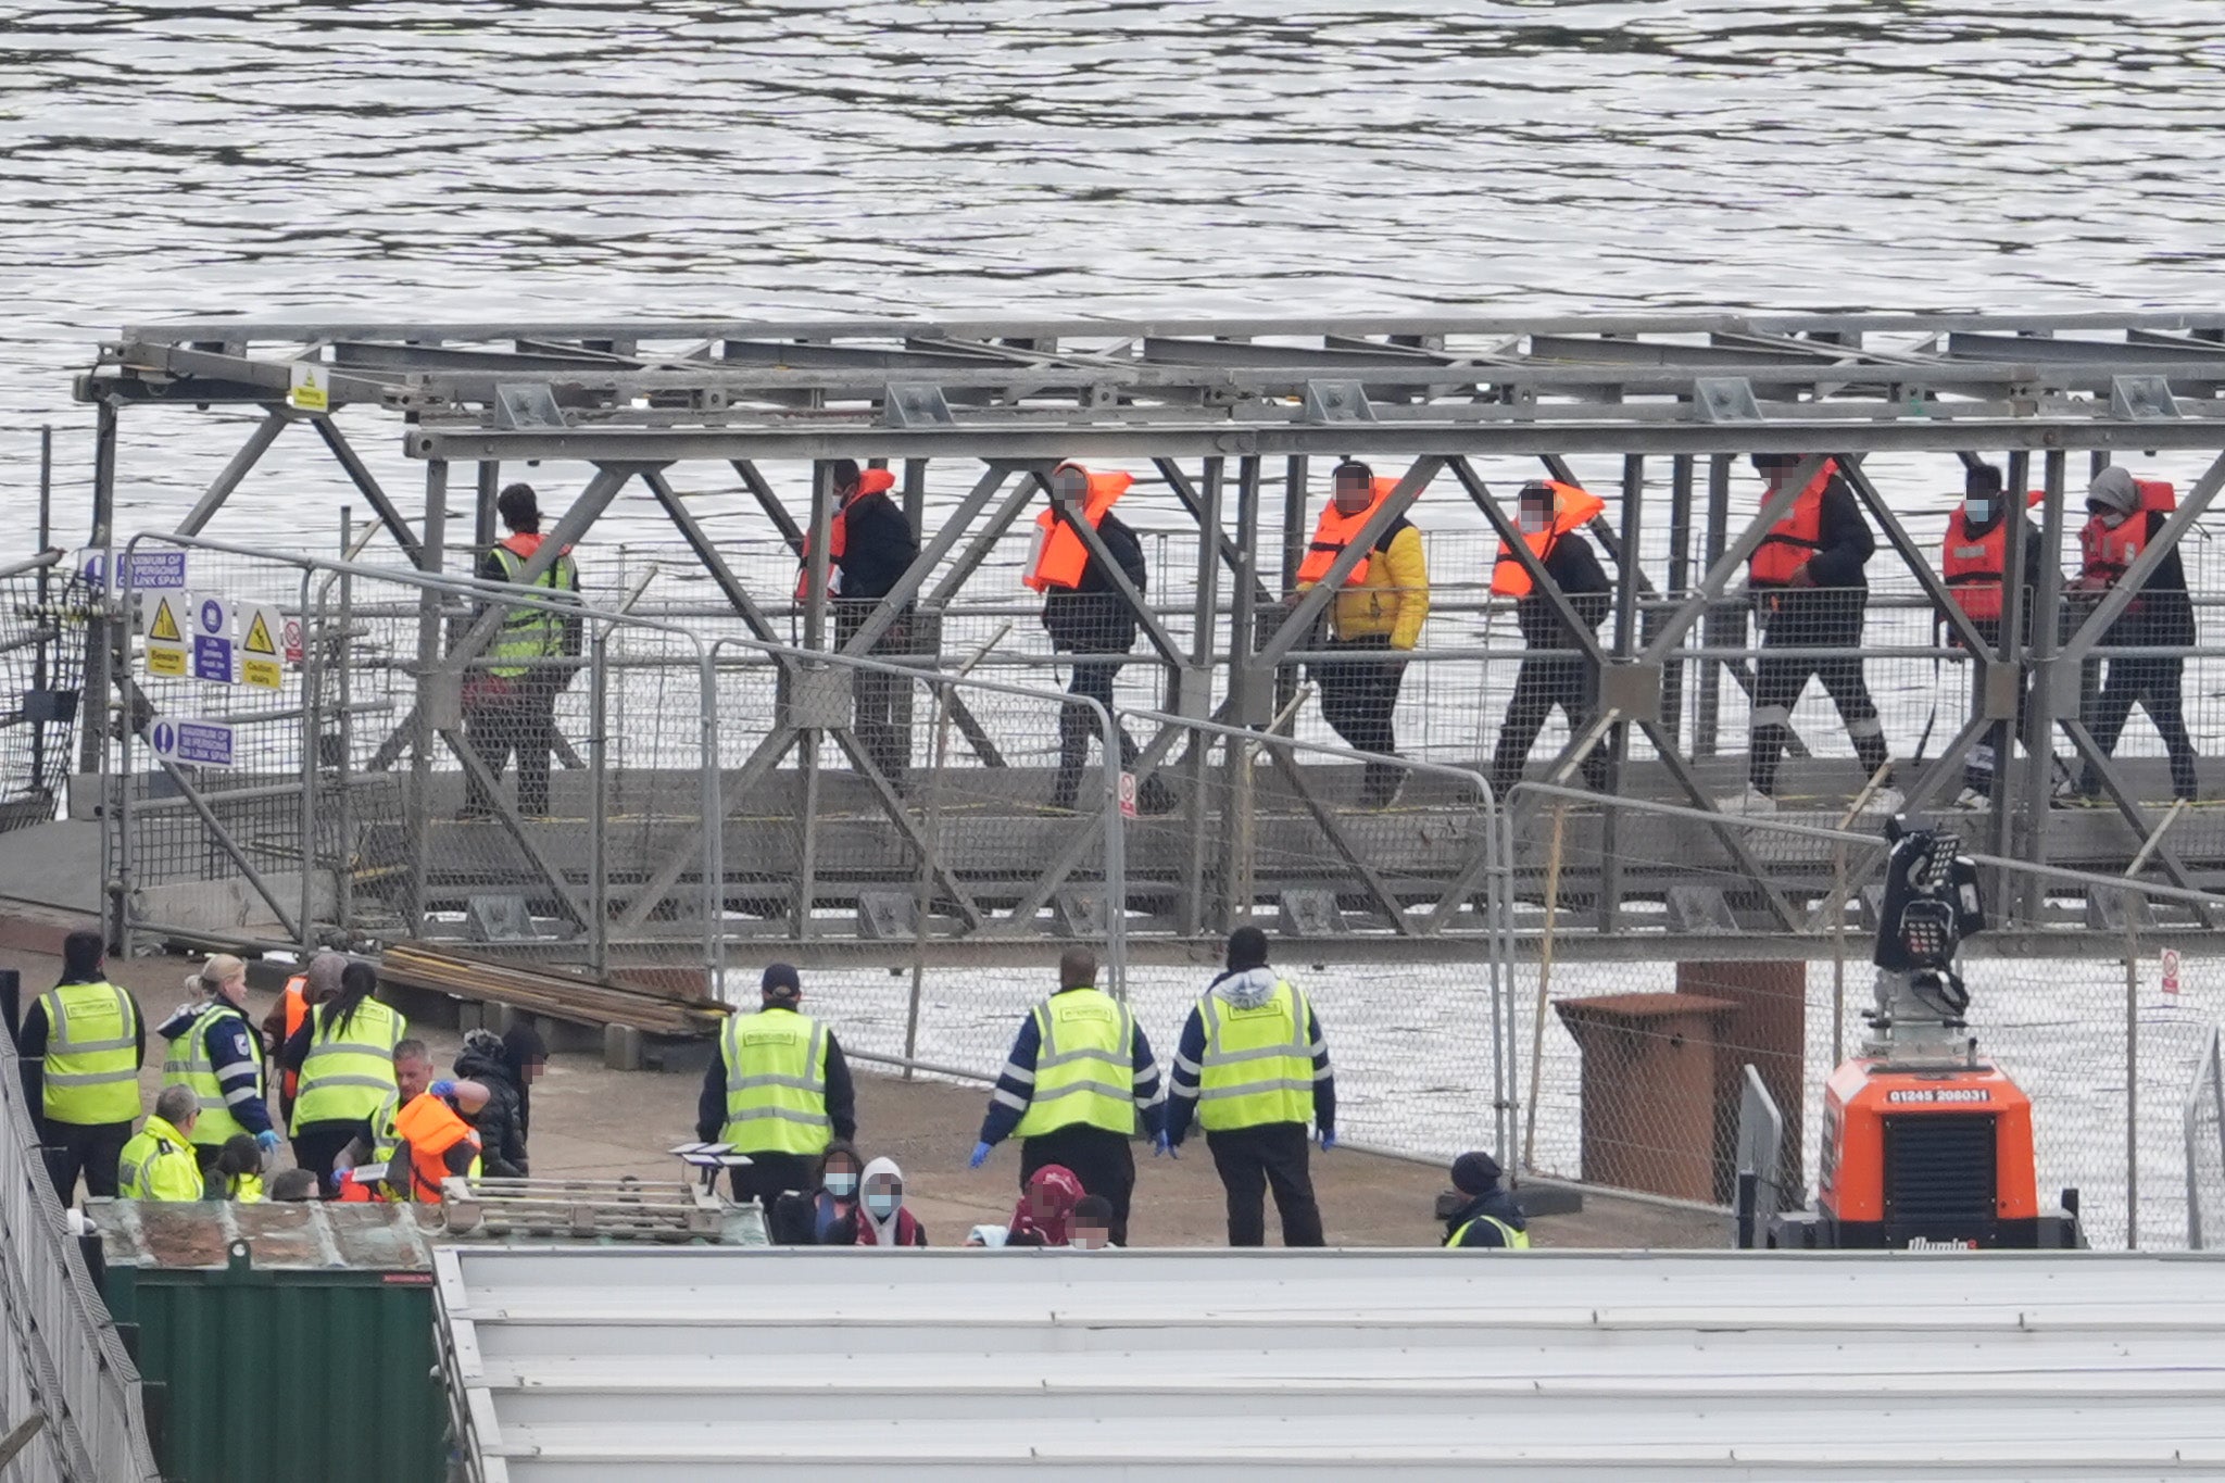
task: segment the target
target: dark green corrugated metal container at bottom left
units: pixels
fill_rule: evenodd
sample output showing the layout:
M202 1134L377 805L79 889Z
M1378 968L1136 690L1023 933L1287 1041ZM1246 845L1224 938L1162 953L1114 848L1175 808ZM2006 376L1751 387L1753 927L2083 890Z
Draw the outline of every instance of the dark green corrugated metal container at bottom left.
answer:
M169 1483L443 1483L432 1245L407 1205L89 1201Z

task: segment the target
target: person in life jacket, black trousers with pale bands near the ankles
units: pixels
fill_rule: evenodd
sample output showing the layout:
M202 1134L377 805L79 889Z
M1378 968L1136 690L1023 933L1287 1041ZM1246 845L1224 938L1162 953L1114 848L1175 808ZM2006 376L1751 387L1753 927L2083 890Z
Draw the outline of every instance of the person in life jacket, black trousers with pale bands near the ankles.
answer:
M1753 467L1776 494L1800 467L1798 454L1756 454ZM1764 496L1767 498L1767 496ZM1831 658L1780 658L1764 654L1753 665L1753 723L1747 738L1747 792L1724 807L1767 814L1776 807L1778 763L1793 725L1793 705L1809 676L1822 680L1853 738L1862 778L1885 767L1885 725L1862 678L1862 609L1869 580L1862 567L1878 549L1853 491L1824 462L1747 563L1747 587L1762 620L1762 649L1847 649ZM1878 798L1887 812L1900 807L1889 787Z

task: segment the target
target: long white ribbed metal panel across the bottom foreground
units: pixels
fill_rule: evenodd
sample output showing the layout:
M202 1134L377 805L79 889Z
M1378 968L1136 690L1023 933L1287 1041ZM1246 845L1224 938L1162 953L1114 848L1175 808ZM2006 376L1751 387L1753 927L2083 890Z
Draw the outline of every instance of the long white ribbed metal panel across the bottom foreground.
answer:
M481 1483L2225 1474L2225 1261L436 1252Z

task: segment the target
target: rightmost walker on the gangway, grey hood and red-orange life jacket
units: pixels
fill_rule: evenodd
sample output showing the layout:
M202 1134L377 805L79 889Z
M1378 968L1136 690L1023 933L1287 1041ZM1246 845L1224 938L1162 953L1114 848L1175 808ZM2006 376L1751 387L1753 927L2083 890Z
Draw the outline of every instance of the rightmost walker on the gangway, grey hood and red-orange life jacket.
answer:
M2087 522L2078 531L2083 556L2074 585L2078 594L2098 598L2116 587L2169 520L2169 485L2143 487L2143 482L2127 469L2109 467L2096 474L2087 487ZM2140 587L2140 596L2103 634L2103 647L2194 647L2194 603L2187 598L2187 569L2178 560L2178 547L2163 554L2160 565ZM2145 707L2172 758L2174 798L2194 798L2198 792L2194 738L2187 736L2183 696L2185 667L2185 658L2176 656L2109 658L2109 671L2094 698L2092 725L2087 727L2094 734L2094 745L2112 756L2116 738L2125 731L2125 720L2132 718L2132 707ZM2078 792L2085 798L2100 794L2100 776L2094 767L2087 767L2078 778Z

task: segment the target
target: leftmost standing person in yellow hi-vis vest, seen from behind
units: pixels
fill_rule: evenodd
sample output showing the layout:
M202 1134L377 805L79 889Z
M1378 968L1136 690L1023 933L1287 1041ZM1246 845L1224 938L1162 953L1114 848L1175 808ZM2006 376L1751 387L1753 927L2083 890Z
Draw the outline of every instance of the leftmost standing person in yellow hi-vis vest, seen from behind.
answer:
M65 1205L76 1198L78 1174L87 1194L116 1194L116 1158L140 1114L147 1021L109 983L98 932L62 938L62 981L24 1012L16 1054L56 1194Z

